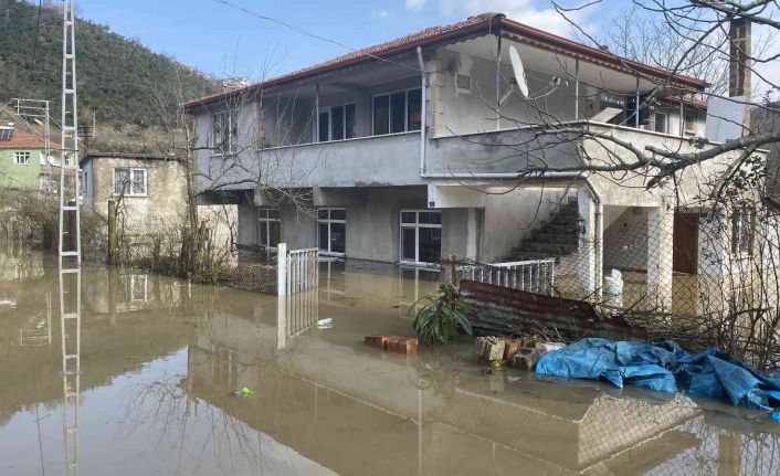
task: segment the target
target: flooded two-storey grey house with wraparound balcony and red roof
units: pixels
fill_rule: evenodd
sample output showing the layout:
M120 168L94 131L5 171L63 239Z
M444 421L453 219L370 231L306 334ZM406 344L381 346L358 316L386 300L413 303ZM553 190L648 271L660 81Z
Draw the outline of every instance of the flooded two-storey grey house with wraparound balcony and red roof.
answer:
M527 96L513 76L513 50ZM660 84L688 96L645 102ZM691 94L706 87L485 13L183 107L197 121L200 200L239 204L242 243L410 265L555 256L581 264L587 294L601 288L605 266L620 267L621 253L636 253L605 243L610 230L641 221L643 260L629 267L645 272L649 294L667 306L676 263L700 273L713 260L700 248L730 250L694 233L674 246L689 260L673 260L675 208L699 226L700 210L685 209L699 182L684 178L692 180L678 184L683 201L673 203L673 191L646 190L641 177L518 172L624 154L538 134L540 125L693 150L706 104Z

